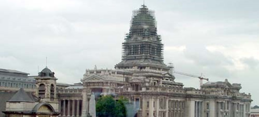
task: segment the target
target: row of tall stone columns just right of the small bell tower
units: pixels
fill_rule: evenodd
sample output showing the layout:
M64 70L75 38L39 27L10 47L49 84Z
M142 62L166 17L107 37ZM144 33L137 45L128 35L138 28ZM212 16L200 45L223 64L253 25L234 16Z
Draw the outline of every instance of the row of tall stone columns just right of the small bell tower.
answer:
M82 100L59 100L60 116L80 117L82 114Z

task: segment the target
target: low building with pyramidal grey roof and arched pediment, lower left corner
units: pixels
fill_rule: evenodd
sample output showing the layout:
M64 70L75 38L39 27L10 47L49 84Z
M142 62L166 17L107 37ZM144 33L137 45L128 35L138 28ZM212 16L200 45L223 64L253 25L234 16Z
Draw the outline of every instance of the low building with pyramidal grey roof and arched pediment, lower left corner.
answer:
M3 113L6 117L56 117L59 115L49 103L40 101L31 93L26 93L23 88L20 88L6 102L6 109Z

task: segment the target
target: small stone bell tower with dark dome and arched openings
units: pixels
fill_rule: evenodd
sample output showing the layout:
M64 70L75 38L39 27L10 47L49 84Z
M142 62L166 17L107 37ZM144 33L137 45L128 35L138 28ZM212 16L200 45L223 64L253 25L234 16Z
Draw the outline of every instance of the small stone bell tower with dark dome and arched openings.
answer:
M56 102L56 80L57 78L54 76L54 72L46 67L39 75L35 77L36 79L36 96L41 100L47 102Z

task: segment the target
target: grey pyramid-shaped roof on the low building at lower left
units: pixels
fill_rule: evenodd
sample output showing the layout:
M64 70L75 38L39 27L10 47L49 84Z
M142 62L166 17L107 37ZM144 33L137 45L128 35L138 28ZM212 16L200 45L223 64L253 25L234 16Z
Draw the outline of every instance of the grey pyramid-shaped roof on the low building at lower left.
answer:
M23 88L20 88L8 102L35 102L33 96L29 96Z

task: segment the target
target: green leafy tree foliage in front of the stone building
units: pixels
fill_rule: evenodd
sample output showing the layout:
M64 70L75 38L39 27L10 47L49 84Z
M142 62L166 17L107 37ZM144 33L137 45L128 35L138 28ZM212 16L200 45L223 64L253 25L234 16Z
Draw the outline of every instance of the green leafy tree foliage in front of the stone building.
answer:
M103 96L98 99L96 104L96 116L98 117L126 117L126 103L128 100L119 97L115 102L111 96Z

